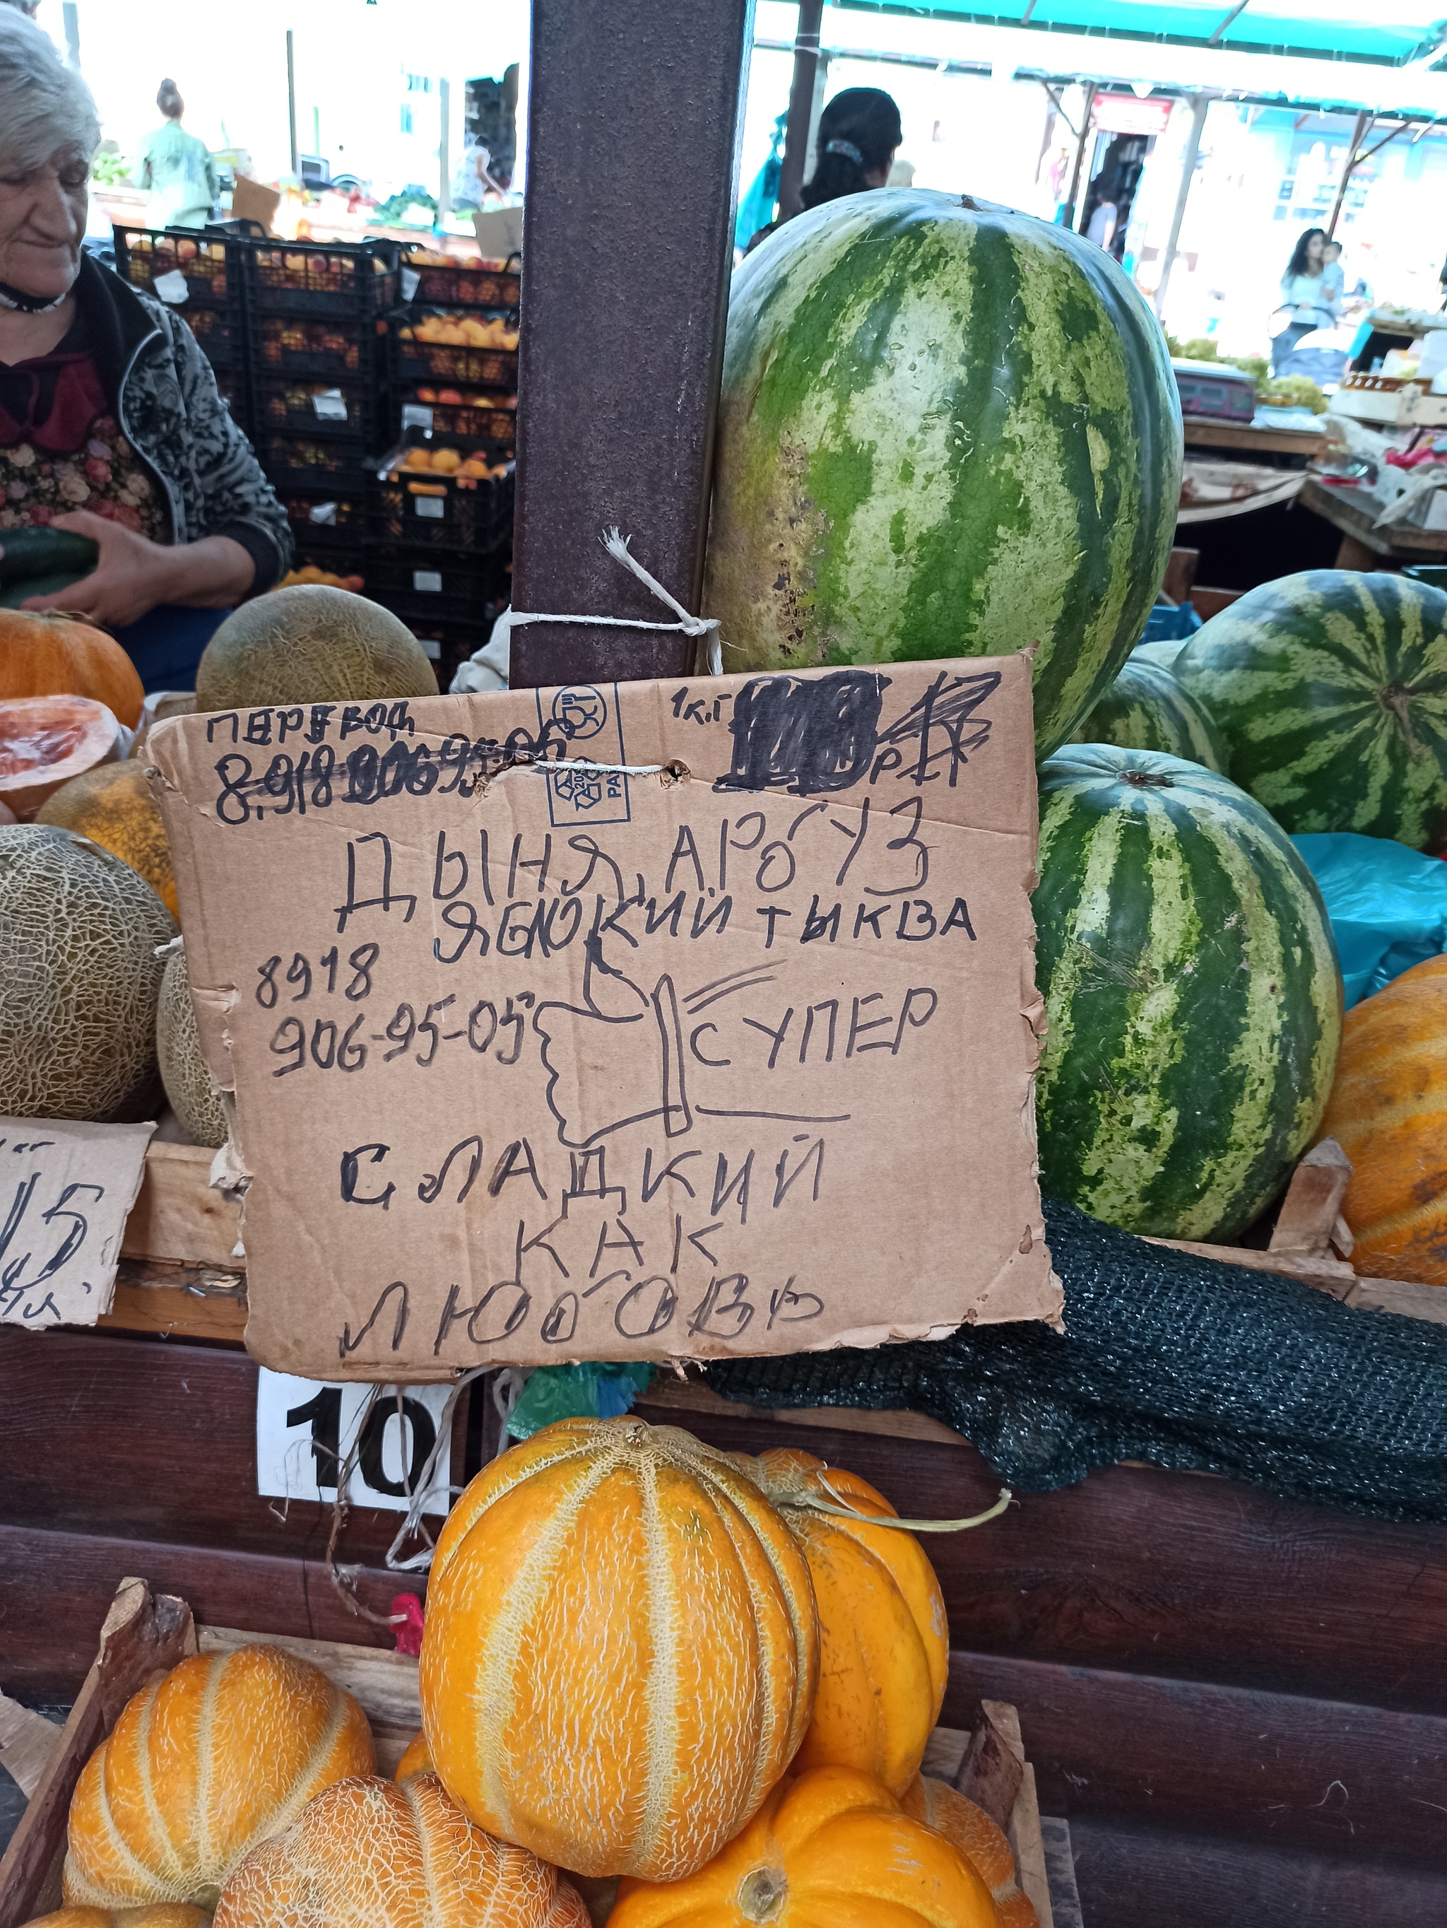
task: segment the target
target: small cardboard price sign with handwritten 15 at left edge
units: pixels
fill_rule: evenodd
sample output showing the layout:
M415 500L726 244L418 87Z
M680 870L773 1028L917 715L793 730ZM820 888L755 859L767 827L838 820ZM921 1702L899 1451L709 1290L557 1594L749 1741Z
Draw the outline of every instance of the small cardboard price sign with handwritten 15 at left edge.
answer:
M40 1330L110 1311L154 1130L0 1118L0 1323Z

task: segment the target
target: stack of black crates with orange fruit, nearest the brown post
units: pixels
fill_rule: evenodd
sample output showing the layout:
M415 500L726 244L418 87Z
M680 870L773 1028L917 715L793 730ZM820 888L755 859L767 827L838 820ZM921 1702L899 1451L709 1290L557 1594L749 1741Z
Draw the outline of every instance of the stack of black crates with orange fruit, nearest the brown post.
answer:
M509 600L518 272L424 254L403 264L403 295L368 594L435 646L445 688Z

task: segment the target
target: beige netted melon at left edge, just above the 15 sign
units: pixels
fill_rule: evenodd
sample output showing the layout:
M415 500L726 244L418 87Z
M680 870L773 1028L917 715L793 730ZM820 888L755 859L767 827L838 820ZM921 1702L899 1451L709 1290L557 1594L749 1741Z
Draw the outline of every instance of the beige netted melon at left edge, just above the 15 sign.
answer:
M0 1114L145 1116L170 910L110 850L54 823L0 829Z

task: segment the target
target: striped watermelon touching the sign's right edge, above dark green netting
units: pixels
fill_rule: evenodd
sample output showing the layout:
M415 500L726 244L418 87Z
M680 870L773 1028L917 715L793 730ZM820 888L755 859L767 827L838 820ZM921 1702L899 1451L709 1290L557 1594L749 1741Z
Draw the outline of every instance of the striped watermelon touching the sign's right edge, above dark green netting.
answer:
M1312 1141L1341 1037L1322 898L1227 777L1150 750L1040 767L1046 1192L1162 1238L1241 1232Z

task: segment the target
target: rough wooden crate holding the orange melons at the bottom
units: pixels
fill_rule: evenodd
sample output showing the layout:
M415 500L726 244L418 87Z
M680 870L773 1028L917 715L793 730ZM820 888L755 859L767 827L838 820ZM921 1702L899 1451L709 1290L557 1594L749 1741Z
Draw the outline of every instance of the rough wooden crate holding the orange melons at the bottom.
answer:
M56 1729L50 1760L0 1861L0 1928L23 1928L37 1915L60 1907L66 1816L75 1783L131 1695L187 1654L231 1652L256 1639L310 1660L345 1687L372 1724L378 1772L395 1770L422 1726L416 1660L378 1647L197 1625L191 1608L177 1594L152 1594L143 1579L123 1579L100 1629L100 1647L85 1685L64 1729ZM1025 1760L1015 1708L985 1700L971 1731L936 1727L925 1754L925 1772L956 1781L1006 1828L1019 1886L1035 1903L1040 1928L1054 1928L1035 1770ZM603 1915L595 1918L601 1920Z

